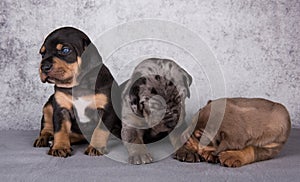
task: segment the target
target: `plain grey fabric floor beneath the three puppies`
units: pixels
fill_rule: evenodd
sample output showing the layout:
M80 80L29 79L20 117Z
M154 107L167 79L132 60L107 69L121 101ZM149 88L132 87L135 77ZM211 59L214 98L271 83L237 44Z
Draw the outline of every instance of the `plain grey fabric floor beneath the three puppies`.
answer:
M83 154L55 158L48 148L33 148L38 131L0 131L0 181L299 181L300 129L293 129L275 159L237 169L207 163L182 163L170 157L148 165L129 165Z

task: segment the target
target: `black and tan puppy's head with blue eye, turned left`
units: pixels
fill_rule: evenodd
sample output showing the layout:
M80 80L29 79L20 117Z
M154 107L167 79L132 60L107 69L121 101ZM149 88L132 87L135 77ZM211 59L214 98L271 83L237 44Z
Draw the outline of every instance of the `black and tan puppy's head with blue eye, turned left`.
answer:
M64 27L52 32L40 49L41 81L63 88L76 86L81 55L89 43L89 38L75 28Z

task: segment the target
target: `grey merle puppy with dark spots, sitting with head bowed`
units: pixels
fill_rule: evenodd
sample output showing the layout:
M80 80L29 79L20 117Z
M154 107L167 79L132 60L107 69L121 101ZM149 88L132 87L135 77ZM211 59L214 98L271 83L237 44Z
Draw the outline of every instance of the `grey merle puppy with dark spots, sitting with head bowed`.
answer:
M129 163L152 162L145 144L166 137L183 121L191 82L191 76L172 60L146 59L135 68L122 92L121 136Z

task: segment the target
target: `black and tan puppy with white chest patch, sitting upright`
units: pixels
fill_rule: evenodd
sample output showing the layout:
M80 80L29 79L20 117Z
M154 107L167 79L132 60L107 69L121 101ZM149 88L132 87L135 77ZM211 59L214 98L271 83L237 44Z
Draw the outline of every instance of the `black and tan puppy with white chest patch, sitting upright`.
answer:
M40 54L41 81L54 84L55 93L44 106L34 146L53 139L48 154L70 156L71 144L85 140L80 129L86 127L92 130L85 154L104 154L110 132L120 138L121 121L111 103L114 78L96 47L82 31L63 27L47 36Z

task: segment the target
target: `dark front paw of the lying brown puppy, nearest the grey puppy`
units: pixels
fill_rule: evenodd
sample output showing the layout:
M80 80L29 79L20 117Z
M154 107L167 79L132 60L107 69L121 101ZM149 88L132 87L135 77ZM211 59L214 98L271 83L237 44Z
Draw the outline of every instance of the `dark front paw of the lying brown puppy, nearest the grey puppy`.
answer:
M174 154L173 158L181 162L201 162L201 158L197 152L188 150L185 146L179 148Z

